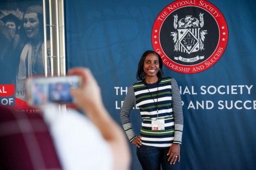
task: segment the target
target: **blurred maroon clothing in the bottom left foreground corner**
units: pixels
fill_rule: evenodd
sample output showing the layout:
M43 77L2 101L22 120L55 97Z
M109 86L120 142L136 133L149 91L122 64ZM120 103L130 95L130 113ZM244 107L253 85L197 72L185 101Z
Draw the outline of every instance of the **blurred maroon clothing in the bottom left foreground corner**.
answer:
M0 169L61 169L48 126L39 113L0 106Z

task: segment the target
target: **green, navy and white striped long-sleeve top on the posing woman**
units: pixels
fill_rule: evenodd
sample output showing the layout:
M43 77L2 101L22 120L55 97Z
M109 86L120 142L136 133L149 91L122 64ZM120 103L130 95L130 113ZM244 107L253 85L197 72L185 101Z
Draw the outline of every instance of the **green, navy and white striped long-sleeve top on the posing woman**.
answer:
M130 114L139 107L142 118L140 135L142 144L153 147L169 147L182 142L183 112L181 96L175 79L159 78L154 84L145 81L134 83L127 90L120 118L130 142L136 138ZM164 130L152 130L152 118L164 119Z

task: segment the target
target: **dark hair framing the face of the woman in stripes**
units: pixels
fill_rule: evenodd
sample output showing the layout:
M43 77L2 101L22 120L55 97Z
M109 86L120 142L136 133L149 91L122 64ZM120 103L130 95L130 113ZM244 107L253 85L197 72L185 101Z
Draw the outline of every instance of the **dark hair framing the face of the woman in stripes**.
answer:
M143 70L143 66L144 66L145 58L146 58L146 56L147 56L148 54L155 54L155 55L158 56L160 71L157 72L157 77L158 77L158 78L159 78L159 77L163 77L163 75L164 75L164 74L163 74L163 69L162 69L162 67L163 67L163 61L162 61L160 55L159 55L158 53L152 51L152 50L147 50L147 51L145 51L145 52L142 54L142 56L141 56L141 58L140 58L140 61L139 61L139 63L138 63L138 71L137 71L137 79L138 79L138 80L145 80L145 72L144 72L144 70Z

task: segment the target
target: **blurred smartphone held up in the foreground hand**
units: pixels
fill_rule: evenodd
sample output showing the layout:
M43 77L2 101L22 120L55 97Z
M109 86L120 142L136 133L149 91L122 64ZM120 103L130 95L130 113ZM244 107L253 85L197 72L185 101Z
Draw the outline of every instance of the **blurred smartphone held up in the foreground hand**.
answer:
M30 106L72 103L70 88L80 86L80 76L30 77L26 80L27 103Z

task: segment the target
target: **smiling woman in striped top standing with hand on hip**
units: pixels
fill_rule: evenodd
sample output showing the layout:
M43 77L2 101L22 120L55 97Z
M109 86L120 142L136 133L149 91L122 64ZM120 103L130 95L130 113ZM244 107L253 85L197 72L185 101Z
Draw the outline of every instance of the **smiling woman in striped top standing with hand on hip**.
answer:
M183 113L175 79L163 77L159 54L146 51L138 64L137 78L127 90L120 113L129 140L137 146L143 169L180 169ZM135 136L130 113L138 106L142 117L140 135Z

